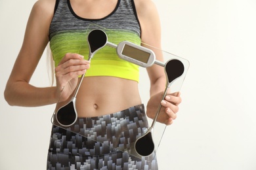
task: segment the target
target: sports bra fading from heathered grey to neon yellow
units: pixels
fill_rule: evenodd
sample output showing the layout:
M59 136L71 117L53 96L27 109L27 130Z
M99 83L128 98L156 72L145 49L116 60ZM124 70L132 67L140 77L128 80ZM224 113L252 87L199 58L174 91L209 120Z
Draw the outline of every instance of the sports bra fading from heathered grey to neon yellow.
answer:
M78 53L87 59L89 30L100 27L104 28L109 42L118 44L130 41L140 44L140 24L133 0L118 0L112 13L96 20L77 16L70 0L57 0L49 30L55 66L66 53ZM139 66L120 59L115 48L105 46L93 56L85 76L116 76L139 82Z

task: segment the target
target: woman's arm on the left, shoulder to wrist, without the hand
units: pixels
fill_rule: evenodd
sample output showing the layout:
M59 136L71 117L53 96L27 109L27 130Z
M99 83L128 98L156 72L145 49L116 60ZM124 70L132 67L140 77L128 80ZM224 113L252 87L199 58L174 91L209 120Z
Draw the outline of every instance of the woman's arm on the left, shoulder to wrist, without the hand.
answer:
M16 58L5 88L5 99L9 105L33 107L56 102L54 88L39 89L29 84L30 78L49 41L48 30L54 10L54 4L50 2L37 1L33 5L22 48Z

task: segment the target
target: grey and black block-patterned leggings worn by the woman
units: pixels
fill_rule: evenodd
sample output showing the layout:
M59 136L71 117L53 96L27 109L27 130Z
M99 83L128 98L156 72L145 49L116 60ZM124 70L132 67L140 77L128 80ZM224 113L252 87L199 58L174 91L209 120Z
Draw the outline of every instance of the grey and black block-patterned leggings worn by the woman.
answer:
M78 118L68 128L54 121L47 170L157 170L156 156L148 161L128 154L131 145L147 129L144 105L104 116Z

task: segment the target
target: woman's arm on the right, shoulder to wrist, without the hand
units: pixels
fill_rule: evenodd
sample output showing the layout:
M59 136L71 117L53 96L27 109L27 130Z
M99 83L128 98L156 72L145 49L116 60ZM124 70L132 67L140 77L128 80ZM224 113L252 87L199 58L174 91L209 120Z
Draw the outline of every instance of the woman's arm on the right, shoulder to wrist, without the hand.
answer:
M142 46L146 46L146 44L154 46L151 50L154 50L156 59L163 61L160 50L155 49L161 49L161 24L158 11L151 0L135 0L135 5L141 26ZM146 48L150 48L150 46L146 46ZM150 96L162 92L166 80L163 67L154 64L152 67L148 67L147 71L150 78Z

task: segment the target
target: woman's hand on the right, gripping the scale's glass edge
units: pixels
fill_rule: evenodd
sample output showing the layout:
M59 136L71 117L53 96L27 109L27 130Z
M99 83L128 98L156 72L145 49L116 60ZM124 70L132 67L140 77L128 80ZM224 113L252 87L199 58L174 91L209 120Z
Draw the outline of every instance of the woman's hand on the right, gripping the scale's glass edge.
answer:
M181 103L181 93L167 93L165 99L161 101L163 92L157 93L150 97L148 105L146 107L146 114L149 118L154 119L156 111L161 103L161 110L158 115L157 121L166 125L171 125L173 120L177 118L177 112L179 111L179 104Z

